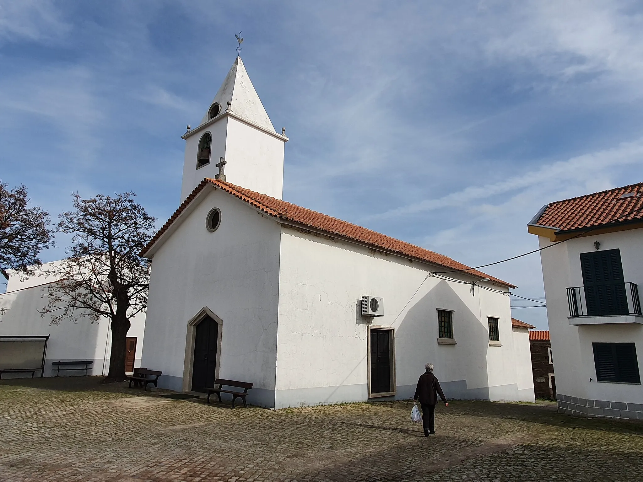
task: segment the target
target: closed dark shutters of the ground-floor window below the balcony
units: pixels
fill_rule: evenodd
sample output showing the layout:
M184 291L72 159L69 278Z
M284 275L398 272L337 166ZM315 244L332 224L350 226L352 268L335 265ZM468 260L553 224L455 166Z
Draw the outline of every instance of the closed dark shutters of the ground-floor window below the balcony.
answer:
M640 383L634 343L592 343L599 382Z

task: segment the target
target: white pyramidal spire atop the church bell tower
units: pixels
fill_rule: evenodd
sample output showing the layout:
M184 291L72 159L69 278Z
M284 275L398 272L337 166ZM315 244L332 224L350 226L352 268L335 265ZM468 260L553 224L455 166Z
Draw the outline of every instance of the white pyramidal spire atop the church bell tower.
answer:
M241 57L237 57L235 63L230 67L230 72L226 75L223 84L219 87L219 92L214 96L210 105L218 103L219 112L223 112L228 109L228 102L230 102L230 112L233 114L258 127L275 132L275 127L273 127L273 123L270 121L257 91L255 91L255 87L250 82ZM209 112L210 109L203 116L202 124L210 120Z

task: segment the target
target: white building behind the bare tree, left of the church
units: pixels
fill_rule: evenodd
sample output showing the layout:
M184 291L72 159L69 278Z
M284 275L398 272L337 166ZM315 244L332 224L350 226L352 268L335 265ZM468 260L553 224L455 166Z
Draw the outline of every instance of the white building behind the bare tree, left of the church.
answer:
M111 353L111 330L109 319L100 319L92 323L87 316L78 317L77 321L62 320L58 325L51 325L51 316L41 316L42 308L48 303L48 286L55 283L54 276L46 274L49 267L57 262L43 263L39 268L42 276L25 278L9 270L6 293L0 294L0 337L3 336L42 336L50 335L44 363L44 376L55 375L51 362L91 360L90 375L107 375ZM143 349L143 332L145 331L145 313L130 319L132 324L128 336L127 368L140 366ZM0 342L0 349L2 348ZM0 355L0 370L2 370ZM63 375L80 375L81 371L61 371ZM40 373L37 373L39 376ZM5 373L4 378L31 376L24 373Z

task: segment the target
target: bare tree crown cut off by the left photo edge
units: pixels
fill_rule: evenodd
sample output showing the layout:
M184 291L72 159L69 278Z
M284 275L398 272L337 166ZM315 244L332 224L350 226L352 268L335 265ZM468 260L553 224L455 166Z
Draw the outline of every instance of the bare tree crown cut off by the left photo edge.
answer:
M27 208L27 188L8 189L0 182L0 272L41 264L38 254L53 245L49 214L39 206Z

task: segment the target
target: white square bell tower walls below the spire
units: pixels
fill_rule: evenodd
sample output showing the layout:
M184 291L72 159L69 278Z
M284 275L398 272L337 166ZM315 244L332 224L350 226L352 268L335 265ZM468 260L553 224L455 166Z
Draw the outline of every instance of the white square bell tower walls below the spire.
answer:
M197 169L199 141L205 132L212 135L210 164ZM226 181L246 189L282 198L284 183L284 141L240 120L223 116L186 139L183 165L183 202L204 177L219 172L219 158L226 159Z

